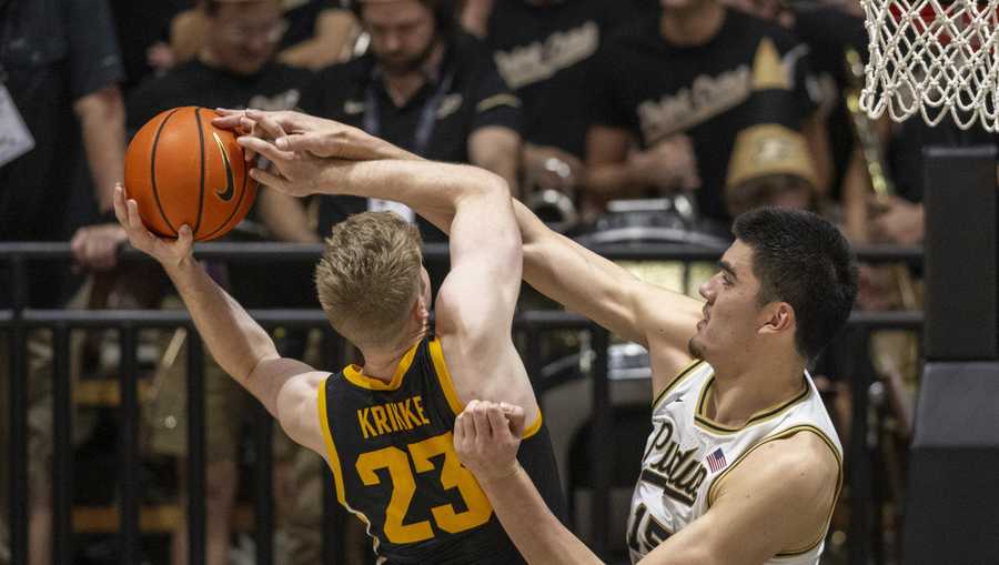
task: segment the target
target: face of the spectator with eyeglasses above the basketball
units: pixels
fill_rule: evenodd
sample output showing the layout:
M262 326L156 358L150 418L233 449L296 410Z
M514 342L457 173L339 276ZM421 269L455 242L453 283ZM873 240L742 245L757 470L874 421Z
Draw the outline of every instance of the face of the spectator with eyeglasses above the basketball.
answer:
M274 56L286 26L276 0L222 2L211 19L208 47L222 68L253 74Z

